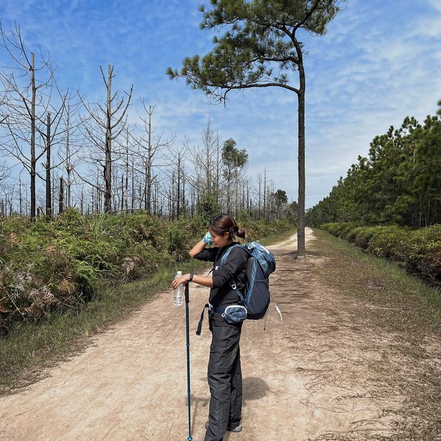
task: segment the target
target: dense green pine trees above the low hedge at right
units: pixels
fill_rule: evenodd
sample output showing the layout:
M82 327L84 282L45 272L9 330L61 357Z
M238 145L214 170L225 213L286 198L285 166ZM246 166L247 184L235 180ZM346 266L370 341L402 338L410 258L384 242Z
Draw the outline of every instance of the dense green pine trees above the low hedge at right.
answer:
M438 101L441 106L441 101ZM371 142L346 178L307 213L309 225L352 222L427 227L441 223L441 108L423 124L406 117Z

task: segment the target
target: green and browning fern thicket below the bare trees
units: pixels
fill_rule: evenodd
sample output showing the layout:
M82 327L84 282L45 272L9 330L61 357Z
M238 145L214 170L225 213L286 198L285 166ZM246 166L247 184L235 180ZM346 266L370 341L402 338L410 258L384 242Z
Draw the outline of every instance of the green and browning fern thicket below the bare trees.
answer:
M170 222L146 212L81 216L68 209L50 221L0 219L0 329L79 307L103 281L150 277L161 265L188 259L207 231L206 216ZM254 222L245 214L242 220L249 240L290 227L286 220Z

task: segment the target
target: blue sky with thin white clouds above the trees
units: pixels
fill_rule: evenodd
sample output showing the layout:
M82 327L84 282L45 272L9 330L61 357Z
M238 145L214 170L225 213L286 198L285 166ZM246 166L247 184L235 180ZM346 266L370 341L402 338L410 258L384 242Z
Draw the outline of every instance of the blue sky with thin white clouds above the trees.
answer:
M2 0L3 27L21 27L28 50L50 52L63 88L103 100L99 65L114 65L116 87L134 84L157 104L154 123L165 136L200 143L210 118L221 141L249 152L249 174L267 169L291 200L297 192L296 96L268 88L232 92L226 107L207 103L185 80L170 81L168 66L205 54L213 32L198 28L203 0ZM307 73L307 207L327 196L369 142L405 116L420 121L441 99L441 0L348 0L324 37L302 37ZM0 52L2 65L8 60ZM296 74L291 75L296 85Z

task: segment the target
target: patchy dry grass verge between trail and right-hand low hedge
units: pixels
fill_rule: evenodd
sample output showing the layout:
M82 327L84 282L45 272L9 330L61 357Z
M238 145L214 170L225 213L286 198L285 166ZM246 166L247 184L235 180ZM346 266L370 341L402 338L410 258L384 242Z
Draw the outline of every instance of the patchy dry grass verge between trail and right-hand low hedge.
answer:
M385 410L397 421L391 435L342 434L332 440L441 440L440 289L327 232L314 234L318 240L311 243L311 254L329 259L316 265L316 276L353 300L357 325L387 336L365 381L376 384L374 394L402 401L398 409Z

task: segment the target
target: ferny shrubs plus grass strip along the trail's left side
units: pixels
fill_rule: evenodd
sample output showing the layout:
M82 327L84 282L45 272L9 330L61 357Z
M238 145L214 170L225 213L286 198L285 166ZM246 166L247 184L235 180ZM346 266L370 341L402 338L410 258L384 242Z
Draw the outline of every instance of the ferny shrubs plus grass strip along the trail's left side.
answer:
M287 219L240 220L247 240L294 232ZM206 232L203 216L170 222L68 210L50 221L12 216L0 228L0 393L39 378L85 337L170 287L177 269L206 266L188 256Z

